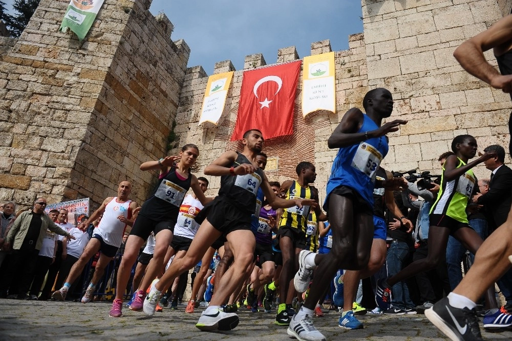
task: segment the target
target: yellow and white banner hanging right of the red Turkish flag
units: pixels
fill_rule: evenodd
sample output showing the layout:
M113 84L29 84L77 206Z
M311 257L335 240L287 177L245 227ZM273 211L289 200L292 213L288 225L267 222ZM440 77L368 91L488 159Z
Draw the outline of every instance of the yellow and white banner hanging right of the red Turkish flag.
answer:
M304 57L302 114L317 110L336 112L334 52Z

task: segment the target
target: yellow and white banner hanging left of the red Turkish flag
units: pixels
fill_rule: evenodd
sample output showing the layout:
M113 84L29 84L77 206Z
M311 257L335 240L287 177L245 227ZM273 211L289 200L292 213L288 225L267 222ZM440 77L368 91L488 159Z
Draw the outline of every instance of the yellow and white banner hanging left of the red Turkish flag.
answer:
M198 125L206 121L217 125L224 111L227 91L231 84L233 73L234 71L229 71L208 77L208 84L204 92L203 107L201 108L201 116Z

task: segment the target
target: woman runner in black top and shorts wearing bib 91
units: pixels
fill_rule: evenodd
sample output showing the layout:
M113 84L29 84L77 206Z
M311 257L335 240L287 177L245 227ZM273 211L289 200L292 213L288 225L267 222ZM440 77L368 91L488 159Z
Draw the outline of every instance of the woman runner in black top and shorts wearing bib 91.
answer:
M111 316L122 315L122 299L130 278L130 271L137 259L139 249L153 232L156 240L153 262L147 267L146 274L130 306L131 310L142 310L146 289L163 269L163 259L173 240L176 219L188 189L192 188L201 204L206 205L211 201L211 198L204 196L197 177L190 173L198 156L199 148L188 144L183 146L178 156L167 156L158 161L148 161L140 165L140 170L160 170L160 174L158 183L151 196L142 205L126 242L117 275L116 299L110 311Z

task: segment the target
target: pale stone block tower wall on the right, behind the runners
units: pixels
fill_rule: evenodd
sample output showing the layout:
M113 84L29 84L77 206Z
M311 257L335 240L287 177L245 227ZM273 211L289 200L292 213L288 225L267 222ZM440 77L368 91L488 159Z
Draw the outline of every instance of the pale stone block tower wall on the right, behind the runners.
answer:
M507 149L510 97L465 72L453 51L509 12L510 2L361 3L369 85L393 93L395 110L390 119L409 120L400 131L390 134L385 167L438 173L437 157L450 150L452 139L459 134L474 135L480 150L491 144ZM485 55L496 65L492 51ZM476 173L489 176L482 166Z

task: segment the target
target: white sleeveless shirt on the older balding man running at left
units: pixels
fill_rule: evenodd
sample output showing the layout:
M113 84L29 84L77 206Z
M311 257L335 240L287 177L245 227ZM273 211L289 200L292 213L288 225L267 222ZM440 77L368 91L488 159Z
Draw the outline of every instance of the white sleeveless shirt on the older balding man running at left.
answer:
M110 203L105 206L103 217L94 229L93 235L99 234L106 244L116 248L120 247L123 242L126 224L122 223L117 217L120 215L123 215L126 219L132 217L131 202L132 200L126 200L124 203L118 203L117 196L110 200Z

